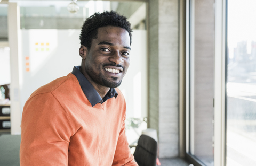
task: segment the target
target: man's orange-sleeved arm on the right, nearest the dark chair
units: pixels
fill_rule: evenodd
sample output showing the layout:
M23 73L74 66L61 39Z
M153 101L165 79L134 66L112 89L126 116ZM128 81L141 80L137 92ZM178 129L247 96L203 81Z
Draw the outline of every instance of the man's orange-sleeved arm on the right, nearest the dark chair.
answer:
M112 165L138 166L138 164L134 161L134 156L131 154L129 144L127 142L124 120L119 134L114 161Z

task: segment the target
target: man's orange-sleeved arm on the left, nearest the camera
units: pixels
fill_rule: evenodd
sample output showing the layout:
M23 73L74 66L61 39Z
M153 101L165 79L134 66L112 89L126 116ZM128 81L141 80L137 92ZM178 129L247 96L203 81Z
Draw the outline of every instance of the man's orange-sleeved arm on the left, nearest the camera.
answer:
M36 95L24 107L20 165L68 165L68 116L51 93Z

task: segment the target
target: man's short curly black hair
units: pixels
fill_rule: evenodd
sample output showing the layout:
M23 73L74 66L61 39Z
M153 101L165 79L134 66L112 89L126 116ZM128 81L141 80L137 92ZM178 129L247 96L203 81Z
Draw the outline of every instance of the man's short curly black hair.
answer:
M82 26L80 33L80 44L87 47L89 50L92 45L92 39L96 39L98 29L100 27L114 26L125 29L130 36L130 45L132 43L131 23L123 15L115 11L105 11L103 13L94 13L87 18Z

